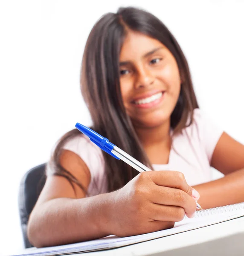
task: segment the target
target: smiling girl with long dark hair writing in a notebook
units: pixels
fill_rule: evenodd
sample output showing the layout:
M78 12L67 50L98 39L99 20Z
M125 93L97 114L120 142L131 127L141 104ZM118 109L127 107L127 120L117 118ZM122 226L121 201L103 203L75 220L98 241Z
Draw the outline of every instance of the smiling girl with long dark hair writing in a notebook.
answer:
M104 15L87 39L81 91L92 128L153 171L138 174L68 132L29 218L33 245L170 228L194 215L198 192L203 208L244 201L244 145L199 110L186 58L156 17ZM211 181L211 166L225 177Z

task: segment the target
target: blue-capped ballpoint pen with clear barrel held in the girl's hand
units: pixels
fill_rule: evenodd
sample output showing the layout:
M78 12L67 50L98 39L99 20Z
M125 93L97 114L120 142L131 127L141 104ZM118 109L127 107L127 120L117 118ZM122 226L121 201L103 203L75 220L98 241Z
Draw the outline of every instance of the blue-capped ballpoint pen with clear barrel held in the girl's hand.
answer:
M131 157L129 154L125 153L122 149L118 148L113 143L110 143L109 140L105 137L102 137L102 135L96 133L96 131L93 131L92 129L81 125L80 123L76 124L76 128L81 131L83 134L88 136L90 138L90 141L95 143L99 148L101 148L103 151L107 152L111 156L115 157L116 159L121 159L125 163L128 163L131 167L135 168L138 172L146 172L151 171L147 166L137 161L134 157ZM196 202L197 209L202 209L200 204Z

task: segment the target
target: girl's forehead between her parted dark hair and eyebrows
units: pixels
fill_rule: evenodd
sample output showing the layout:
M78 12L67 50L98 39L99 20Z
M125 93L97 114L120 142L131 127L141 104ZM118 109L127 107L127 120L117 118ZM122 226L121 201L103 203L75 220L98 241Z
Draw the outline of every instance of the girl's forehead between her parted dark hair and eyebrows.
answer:
M157 39L151 38L139 32L128 32L125 37L120 52L120 61L126 61L133 58L142 58L153 49L164 47Z

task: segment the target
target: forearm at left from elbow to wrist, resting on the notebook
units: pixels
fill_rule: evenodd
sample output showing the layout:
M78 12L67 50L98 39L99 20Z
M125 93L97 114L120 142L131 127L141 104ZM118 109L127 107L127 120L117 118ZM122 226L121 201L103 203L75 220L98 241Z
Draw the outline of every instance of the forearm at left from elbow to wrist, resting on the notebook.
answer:
M56 198L38 205L28 223L28 237L36 247L67 244L109 235L109 194L90 198Z

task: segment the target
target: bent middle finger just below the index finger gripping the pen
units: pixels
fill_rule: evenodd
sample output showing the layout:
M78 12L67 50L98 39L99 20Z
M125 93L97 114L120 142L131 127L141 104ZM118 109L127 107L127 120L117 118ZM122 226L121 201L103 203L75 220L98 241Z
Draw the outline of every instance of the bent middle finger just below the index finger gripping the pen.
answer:
M150 199L154 204L181 207L188 217L195 213L197 207L195 200L183 190L164 186L153 186Z

